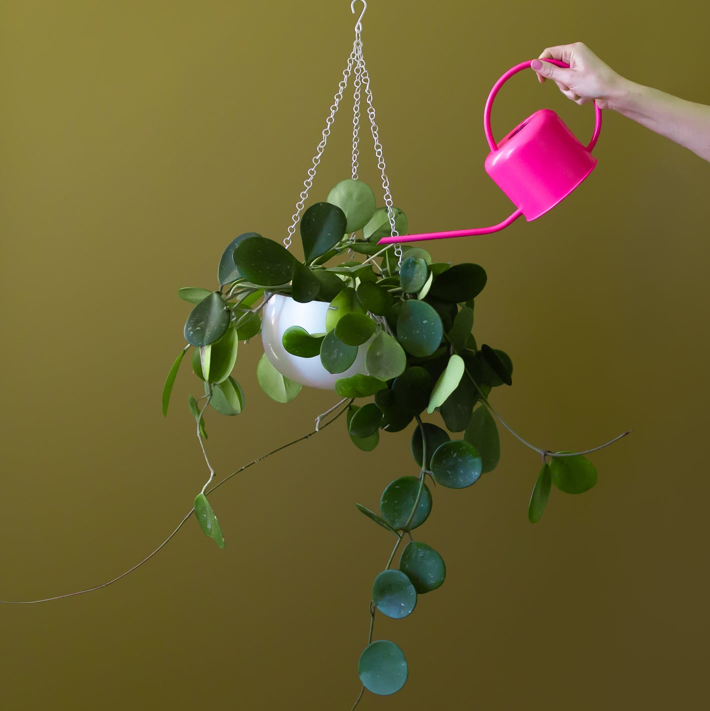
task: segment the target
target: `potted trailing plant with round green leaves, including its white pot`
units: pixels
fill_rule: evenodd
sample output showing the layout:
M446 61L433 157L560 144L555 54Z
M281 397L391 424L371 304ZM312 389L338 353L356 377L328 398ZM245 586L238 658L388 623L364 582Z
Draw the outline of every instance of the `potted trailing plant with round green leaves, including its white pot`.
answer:
M348 179L303 214L303 261L255 232L236 237L220 258L215 291L178 292L195 305L185 321L187 345L163 390L166 414L178 368L192 348L202 392L189 395L188 405L210 472L194 510L203 532L220 547L225 539L206 496L215 472L205 451L205 416L239 415L244 408L244 390L232 377L239 341L262 334L257 382L277 402L293 400L304 384L333 388L342 400L326 414L345 414L355 447L371 451L381 435L408 431L413 474L384 486L379 513L355 504L396 538L372 585L370 635L358 664L360 697L365 688L394 693L407 679L399 647L372 641L375 611L401 619L419 595L443 583L441 555L414 540L412 531L431 513L429 484L466 488L495 469L495 420L502 420L488 397L493 388L512 384L507 353L479 345L473 335L475 298L486 283L483 267L433 262L418 247L377 245L406 229L402 210L376 208L372 190ZM424 421L430 416L434 421ZM532 523L542 516L552 484L565 493L595 485L596 469L584 456L593 450L553 453L527 446L542 457L529 498Z

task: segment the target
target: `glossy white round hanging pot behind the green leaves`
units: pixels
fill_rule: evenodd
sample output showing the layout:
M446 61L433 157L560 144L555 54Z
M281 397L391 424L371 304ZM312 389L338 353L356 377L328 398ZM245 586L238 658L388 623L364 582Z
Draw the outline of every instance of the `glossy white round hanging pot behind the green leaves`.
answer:
M349 378L355 373L367 375L365 368L365 353L370 341L363 343L357 351L355 363L345 370L345 373L328 373L321 364L321 358L299 358L291 355L281 343L284 331L289 326L301 326L308 333L326 332L326 314L328 306L325 301L309 301L308 304L298 304L290 296L275 294L271 296L262 313L262 343L264 353L271 360L274 368L301 385L320 387L323 390L333 390L335 380Z

